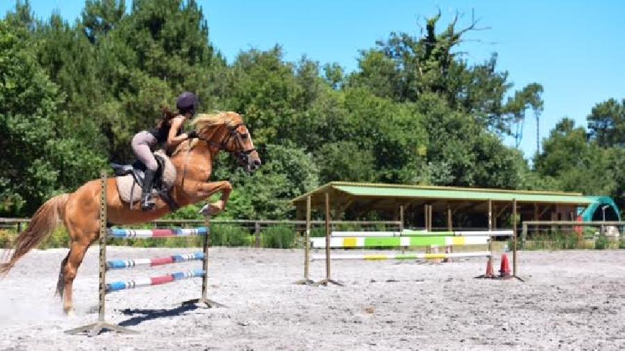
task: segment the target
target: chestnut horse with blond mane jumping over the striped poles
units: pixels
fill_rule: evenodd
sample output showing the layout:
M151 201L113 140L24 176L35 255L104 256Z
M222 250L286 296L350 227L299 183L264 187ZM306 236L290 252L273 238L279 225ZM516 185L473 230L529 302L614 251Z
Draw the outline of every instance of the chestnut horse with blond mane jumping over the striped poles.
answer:
M260 157L239 114L199 114L193 123L198 139L183 142L171 157L177 175L170 194L182 207L221 192L221 199L208 205L208 211L214 214L224 210L232 191L230 182L208 181L217 153L225 150L237 155L240 164L249 172L258 169ZM142 212L138 204L137 208L130 209L128 203L123 203L119 197L115 178L109 178L107 185L108 222L111 224L144 223L169 212L167 203L160 198L150 211ZM72 194L61 194L47 200L35 212L28 228L17 237L15 251L10 261L0 266L0 273L8 273L20 257L38 246L56 228L59 220L63 220L71 244L67 257L61 262L56 291L63 298L64 311L72 311L72 284L76 272L85 252L99 237L100 189L99 180L91 180Z

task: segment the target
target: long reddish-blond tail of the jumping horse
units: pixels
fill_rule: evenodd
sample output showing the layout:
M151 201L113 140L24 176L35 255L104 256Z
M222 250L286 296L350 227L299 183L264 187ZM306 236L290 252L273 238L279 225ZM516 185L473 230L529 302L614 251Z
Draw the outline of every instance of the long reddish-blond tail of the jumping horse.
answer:
M13 243L13 255L8 262L0 264L0 275L6 275L15 263L26 255L28 251L38 246L56 228L60 219L65 217L65 204L69 194L54 196L41 205L28 223L28 228L19 233ZM2 261L10 254L10 250L5 252Z

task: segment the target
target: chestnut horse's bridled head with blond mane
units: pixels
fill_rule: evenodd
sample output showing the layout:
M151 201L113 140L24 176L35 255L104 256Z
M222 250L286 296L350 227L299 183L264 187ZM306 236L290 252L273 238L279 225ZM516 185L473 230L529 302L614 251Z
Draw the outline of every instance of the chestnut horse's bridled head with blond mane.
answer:
M260 168L260 156L240 114L198 114L193 123L201 139L235 155L246 171L253 172Z

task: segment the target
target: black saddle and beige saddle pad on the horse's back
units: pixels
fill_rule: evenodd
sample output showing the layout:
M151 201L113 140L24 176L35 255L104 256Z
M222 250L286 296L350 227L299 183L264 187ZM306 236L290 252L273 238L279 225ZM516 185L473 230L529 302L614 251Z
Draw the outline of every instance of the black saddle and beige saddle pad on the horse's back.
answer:
M160 196L167 203L169 209L175 211L179 206L172 196L169 195L169 190L172 189L174 182L176 182L176 167L174 167L172 161L169 160L169 157L162 150L156 151L154 158L158 163L158 169L152 183L152 196ZM145 164L140 160L136 160L133 164L112 163L110 166L115 172L119 197L124 203L128 203L132 209L135 202L141 199L141 188L146 170Z

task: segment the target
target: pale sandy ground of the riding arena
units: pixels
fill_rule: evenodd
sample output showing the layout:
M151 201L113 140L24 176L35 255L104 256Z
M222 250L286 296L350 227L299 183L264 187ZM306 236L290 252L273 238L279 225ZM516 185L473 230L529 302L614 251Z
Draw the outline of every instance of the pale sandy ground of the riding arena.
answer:
M109 257L194 250L110 248ZM67 250L35 250L0 281L2 350L309 350L625 348L625 252L521 252L526 282L475 280L485 259L451 264L335 262L345 286L291 284L301 250L213 248L210 298L228 308L181 308L201 280L112 293L107 319L140 334L69 336L97 320L97 247L74 283L76 314L53 297ZM499 257L496 261L499 264ZM110 281L199 267L110 273ZM496 267L497 269L497 267ZM311 277L324 275L314 262ZM118 279L119 278L119 279Z

